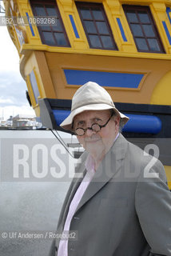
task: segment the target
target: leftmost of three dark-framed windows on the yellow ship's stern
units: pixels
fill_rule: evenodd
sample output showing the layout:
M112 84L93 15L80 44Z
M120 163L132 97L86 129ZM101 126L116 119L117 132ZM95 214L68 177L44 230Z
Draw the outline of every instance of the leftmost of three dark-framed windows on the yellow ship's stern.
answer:
M56 1L32 0L30 2L34 16L57 18L54 25L38 26L42 43L49 46L70 46Z

